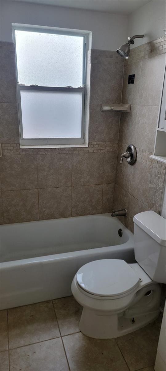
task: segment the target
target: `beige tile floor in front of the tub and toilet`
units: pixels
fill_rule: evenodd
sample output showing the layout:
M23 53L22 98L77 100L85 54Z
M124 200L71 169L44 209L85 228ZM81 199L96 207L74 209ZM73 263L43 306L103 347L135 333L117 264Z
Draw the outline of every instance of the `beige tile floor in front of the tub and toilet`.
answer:
M117 339L79 332L72 296L0 312L0 371L153 371L160 316Z

